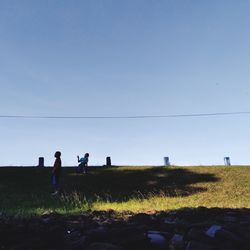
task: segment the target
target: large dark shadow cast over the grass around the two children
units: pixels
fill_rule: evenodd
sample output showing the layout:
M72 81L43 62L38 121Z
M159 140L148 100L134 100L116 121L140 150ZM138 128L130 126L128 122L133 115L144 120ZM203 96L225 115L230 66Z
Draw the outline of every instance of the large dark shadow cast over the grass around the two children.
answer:
M211 173L188 168L90 168L86 175L63 168L62 196L52 197L51 168L0 169L0 212L37 214L40 211L87 211L97 200L121 202L152 195L189 196L207 191L199 183L218 182ZM195 185L194 184L198 184Z

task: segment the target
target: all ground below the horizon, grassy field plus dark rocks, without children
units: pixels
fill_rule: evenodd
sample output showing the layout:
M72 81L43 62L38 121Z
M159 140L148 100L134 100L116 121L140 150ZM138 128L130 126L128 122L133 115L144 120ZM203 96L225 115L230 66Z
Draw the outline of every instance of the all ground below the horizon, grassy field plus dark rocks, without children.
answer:
M63 170L0 168L0 249L249 249L249 167Z

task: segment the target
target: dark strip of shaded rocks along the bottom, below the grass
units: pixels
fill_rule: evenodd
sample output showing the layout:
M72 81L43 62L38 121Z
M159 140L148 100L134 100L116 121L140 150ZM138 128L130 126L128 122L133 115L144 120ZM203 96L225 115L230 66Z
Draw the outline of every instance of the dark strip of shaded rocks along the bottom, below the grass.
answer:
M250 209L113 211L0 219L0 249L249 250Z

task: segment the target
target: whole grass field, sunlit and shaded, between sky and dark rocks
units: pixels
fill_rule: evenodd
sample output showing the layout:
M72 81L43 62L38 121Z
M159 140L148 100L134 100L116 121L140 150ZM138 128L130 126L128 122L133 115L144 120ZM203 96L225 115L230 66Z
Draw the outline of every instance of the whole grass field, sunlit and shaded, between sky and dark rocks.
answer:
M28 216L94 210L145 212L184 207L250 208L250 167L63 168L52 197L50 168L0 168L0 210Z

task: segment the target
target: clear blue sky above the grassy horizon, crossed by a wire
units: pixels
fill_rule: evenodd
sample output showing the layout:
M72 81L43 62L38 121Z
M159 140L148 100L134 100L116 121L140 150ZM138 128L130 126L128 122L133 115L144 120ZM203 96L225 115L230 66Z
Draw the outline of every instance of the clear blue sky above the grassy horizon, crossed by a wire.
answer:
M1 0L0 115L250 111L248 0ZM250 115L0 118L0 165L250 164Z

